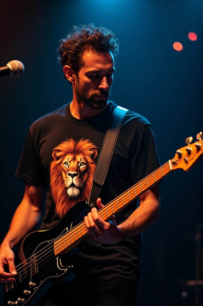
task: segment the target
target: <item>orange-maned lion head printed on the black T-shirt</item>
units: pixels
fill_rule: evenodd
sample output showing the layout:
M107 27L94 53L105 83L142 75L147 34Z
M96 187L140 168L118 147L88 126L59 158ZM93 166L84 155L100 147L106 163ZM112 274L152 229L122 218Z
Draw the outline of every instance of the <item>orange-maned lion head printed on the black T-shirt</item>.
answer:
M56 213L62 218L77 202L88 200L97 148L89 139L66 139L54 148L50 186Z

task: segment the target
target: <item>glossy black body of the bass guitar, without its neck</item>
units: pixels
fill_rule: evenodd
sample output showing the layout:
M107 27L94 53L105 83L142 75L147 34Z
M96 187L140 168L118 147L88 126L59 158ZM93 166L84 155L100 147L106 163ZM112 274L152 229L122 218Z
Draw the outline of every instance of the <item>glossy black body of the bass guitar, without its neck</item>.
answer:
M15 282L4 285L5 305L34 306L53 281L65 278L68 282L76 276L71 256L79 246L57 256L53 246L58 237L82 222L89 211L87 201L81 201L50 230L36 231L23 239L15 252L16 267L21 264L17 267Z

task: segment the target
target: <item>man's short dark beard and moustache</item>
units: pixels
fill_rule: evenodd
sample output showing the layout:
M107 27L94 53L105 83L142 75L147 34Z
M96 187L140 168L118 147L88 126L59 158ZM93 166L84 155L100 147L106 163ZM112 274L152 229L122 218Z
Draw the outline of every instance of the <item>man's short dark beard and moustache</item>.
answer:
M83 87L80 83L79 78L76 77L76 84L75 84L75 93L76 96L82 100L83 103L87 104L89 107L93 108L94 110L102 110L105 108L106 103L110 96L110 90L99 90L100 92L93 92L88 94L87 90ZM106 95L104 99L97 99L95 96Z

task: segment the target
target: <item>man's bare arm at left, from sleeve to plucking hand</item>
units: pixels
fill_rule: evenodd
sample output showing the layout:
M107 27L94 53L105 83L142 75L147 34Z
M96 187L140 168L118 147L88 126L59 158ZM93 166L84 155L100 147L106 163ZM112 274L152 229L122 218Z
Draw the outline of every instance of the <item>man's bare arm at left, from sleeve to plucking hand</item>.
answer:
M27 184L22 202L17 207L9 231L0 246L0 282L14 281L16 274L14 253L12 248L28 233L35 229L41 216L46 188ZM9 265L10 273L4 272L4 266Z

